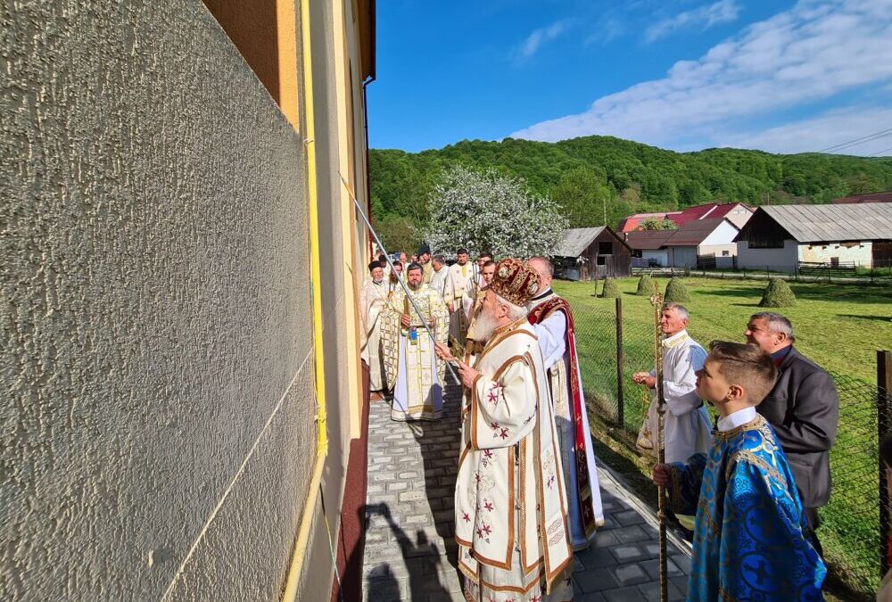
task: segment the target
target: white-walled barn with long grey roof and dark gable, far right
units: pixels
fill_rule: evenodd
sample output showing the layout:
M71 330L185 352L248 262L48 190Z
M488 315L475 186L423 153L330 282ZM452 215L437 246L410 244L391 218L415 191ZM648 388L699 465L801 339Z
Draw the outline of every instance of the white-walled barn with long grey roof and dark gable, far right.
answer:
M739 268L874 267L892 260L892 203L763 206L735 241Z

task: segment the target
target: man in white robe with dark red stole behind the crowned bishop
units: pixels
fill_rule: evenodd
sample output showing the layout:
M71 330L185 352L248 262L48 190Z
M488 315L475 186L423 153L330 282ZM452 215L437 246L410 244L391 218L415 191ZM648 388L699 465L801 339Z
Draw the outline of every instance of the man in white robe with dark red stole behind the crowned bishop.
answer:
M551 290L554 275L551 262L544 257L533 257L528 263L539 275L543 290L527 303L530 312L527 319L539 337L539 347L548 369L565 469L570 536L574 549L580 550L591 545L596 530L604 524L604 507L595 453L591 447L591 425L585 410L573 311L566 300Z

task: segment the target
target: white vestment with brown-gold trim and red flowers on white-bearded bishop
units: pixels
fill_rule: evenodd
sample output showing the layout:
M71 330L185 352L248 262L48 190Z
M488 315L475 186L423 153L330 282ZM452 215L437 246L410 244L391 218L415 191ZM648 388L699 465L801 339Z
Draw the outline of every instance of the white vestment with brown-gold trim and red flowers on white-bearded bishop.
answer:
M525 319L497 329L462 409L455 491L468 600L568 600L573 550L542 354Z

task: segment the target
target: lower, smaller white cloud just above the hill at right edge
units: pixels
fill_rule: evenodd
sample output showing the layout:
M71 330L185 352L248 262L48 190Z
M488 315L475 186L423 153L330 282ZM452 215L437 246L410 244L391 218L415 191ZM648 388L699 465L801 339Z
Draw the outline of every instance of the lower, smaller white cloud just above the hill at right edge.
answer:
M892 132L871 136L874 132L889 128L892 128L892 108L861 107L828 111L813 119L755 134L731 134L722 138L720 145L757 148L769 153L807 153L832 149L830 153L892 156ZM861 138L867 139L844 148L833 148Z

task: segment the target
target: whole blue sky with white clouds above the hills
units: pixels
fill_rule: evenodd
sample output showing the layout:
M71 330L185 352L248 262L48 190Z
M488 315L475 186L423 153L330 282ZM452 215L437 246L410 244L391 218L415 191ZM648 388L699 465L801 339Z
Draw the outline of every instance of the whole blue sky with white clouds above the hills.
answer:
M602 134L820 151L892 129L890 0L383 0L373 148ZM892 155L892 131L840 152Z

